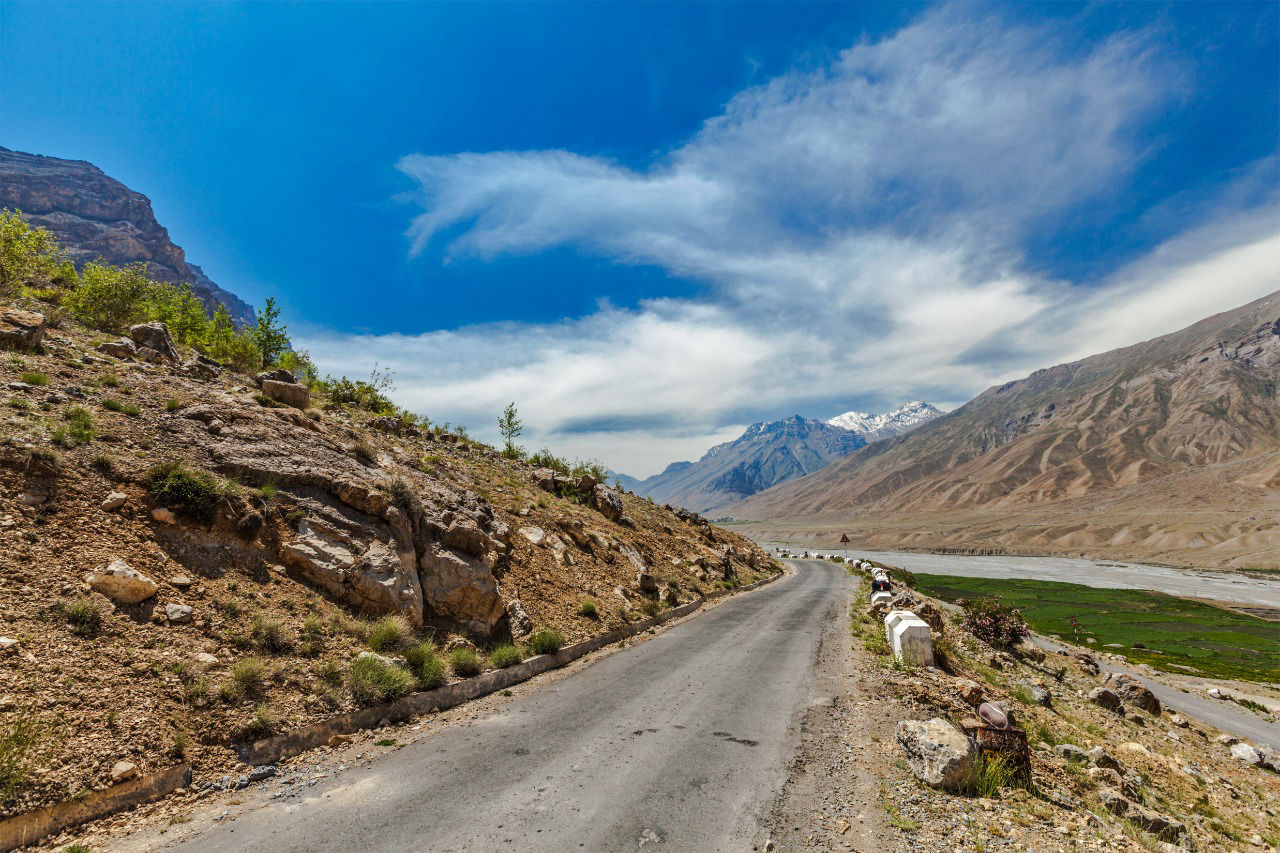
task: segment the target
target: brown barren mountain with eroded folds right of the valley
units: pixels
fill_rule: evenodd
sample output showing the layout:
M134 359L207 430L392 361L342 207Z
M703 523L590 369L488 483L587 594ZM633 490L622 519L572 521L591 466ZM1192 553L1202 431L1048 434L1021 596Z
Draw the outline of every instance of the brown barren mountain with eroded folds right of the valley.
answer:
M1280 292L988 388L728 511L769 538L1280 565Z

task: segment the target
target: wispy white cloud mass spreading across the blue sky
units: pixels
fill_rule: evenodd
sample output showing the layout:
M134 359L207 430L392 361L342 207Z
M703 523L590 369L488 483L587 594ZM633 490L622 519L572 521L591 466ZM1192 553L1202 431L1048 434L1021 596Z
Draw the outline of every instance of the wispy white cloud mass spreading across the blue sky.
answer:
M1036 272L1028 242L1121 192L1156 154L1144 124L1190 85L1149 32L1082 47L1068 29L934 9L740 92L645 168L572 151L406 156L415 254L567 246L707 293L305 345L335 370L393 368L399 402L481 435L516 400L530 443L644 475L760 412L957 405L1275 289L1275 159L1215 220L1101 282Z

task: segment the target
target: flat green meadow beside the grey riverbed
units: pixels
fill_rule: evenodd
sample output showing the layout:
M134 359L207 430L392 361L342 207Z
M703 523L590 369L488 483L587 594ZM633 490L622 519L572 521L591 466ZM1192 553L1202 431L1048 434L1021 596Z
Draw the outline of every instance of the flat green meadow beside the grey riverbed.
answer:
M1082 646L1092 637L1093 648L1119 652L1137 663L1170 672L1280 681L1280 624L1256 616L1144 589L927 574L916 574L915 583L943 601L998 597L1021 610L1039 634L1057 634ZM1124 648L1106 649L1108 643Z

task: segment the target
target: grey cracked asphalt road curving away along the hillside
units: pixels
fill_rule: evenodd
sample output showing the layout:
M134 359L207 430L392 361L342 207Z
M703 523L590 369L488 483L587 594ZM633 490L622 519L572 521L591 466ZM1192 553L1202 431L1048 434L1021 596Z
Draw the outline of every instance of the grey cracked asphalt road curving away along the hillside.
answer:
M742 850L817 697L844 566L733 597L572 678L215 825L182 850Z

